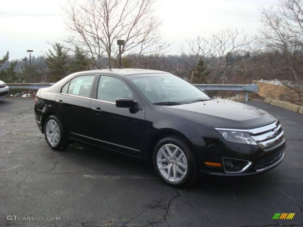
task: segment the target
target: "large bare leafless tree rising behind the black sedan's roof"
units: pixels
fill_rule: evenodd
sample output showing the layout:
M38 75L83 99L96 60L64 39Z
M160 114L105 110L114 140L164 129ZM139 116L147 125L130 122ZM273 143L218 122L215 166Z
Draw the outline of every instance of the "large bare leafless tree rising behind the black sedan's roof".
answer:
M118 66L118 39L125 40L121 53L131 56L133 65L142 55L168 46L161 42L161 22L153 16L154 0L70 0L66 11L70 32L66 41L78 46L98 68L104 67L103 57L109 68Z

